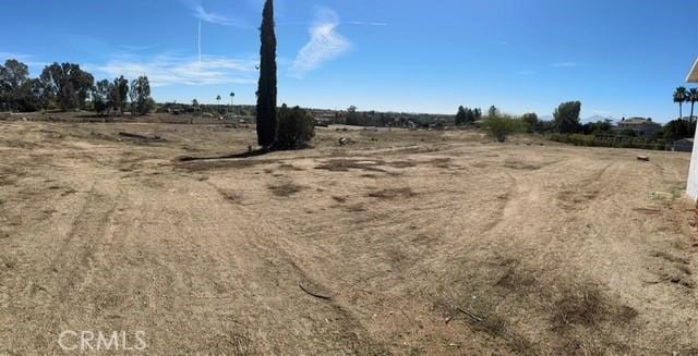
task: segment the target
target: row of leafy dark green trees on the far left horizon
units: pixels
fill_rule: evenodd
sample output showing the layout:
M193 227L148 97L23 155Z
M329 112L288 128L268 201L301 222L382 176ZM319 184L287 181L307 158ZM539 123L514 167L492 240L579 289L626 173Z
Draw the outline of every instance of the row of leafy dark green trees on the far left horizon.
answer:
M0 110L92 109L104 113L110 108L123 112L129 105L132 112L140 114L155 107L147 76L139 76L130 84L123 75L95 83L94 76L79 64L52 63L33 78L29 67L15 59L0 65Z

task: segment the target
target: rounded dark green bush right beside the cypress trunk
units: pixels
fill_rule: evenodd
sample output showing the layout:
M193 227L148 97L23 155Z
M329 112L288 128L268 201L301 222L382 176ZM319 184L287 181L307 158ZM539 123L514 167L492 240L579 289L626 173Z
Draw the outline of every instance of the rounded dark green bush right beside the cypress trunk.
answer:
M286 105L278 112L278 133L276 148L294 149L306 146L315 137L315 120L308 111Z

